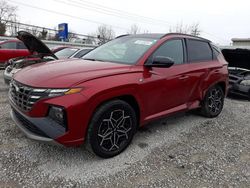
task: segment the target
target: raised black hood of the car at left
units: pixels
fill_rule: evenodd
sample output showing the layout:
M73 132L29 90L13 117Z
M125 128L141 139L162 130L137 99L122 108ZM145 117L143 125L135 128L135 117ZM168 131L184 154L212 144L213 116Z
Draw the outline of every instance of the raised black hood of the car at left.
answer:
M33 53L51 55L58 59L55 54L38 38L26 31L19 31L17 33L17 38L21 40L28 50Z

